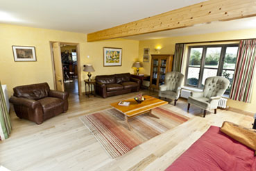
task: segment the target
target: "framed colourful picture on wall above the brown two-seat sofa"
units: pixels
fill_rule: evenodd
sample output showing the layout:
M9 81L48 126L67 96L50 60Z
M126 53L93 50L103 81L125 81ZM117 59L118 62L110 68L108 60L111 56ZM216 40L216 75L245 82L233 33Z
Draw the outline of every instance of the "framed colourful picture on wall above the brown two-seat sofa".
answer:
M113 67L122 65L122 49L103 47L103 66Z

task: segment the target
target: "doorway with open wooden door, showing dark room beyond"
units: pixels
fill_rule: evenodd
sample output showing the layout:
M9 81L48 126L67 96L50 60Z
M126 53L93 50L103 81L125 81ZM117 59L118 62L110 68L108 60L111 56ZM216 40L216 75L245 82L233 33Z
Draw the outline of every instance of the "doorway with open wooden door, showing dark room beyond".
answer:
M81 95L79 44L51 42L51 49L56 90Z

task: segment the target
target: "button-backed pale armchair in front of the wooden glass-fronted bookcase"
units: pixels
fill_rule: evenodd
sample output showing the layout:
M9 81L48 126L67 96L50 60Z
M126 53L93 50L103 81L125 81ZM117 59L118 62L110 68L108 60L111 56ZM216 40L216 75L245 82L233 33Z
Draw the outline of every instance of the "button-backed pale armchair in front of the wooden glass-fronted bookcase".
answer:
M164 85L160 86L158 96L167 99L174 99L174 106L180 97L181 83L184 75L180 72L167 72L165 75Z

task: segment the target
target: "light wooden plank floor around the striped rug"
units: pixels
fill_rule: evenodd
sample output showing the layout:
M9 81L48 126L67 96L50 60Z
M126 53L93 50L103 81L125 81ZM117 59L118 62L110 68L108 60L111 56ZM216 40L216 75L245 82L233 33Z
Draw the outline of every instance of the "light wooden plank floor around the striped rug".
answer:
M144 91L144 94L153 95ZM94 111L110 108L109 104L135 97L137 92L103 99L69 98L69 111L41 125L20 120L11 110L12 134L0 142L0 165L14 170L164 170L195 142L210 125L221 126L224 120L251 127L253 117L218 110L202 117L199 108L179 100L167 108L191 117L180 126L135 147L128 154L112 159L92 133L78 119ZM154 94L156 95L156 94Z

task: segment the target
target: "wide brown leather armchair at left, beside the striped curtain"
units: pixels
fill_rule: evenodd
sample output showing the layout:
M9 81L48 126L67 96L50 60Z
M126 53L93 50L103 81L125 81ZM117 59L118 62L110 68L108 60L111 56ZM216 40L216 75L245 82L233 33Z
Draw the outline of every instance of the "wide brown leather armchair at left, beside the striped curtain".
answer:
M48 83L13 88L10 102L17 117L42 124L44 120L65 113L69 108L68 92L50 90Z

